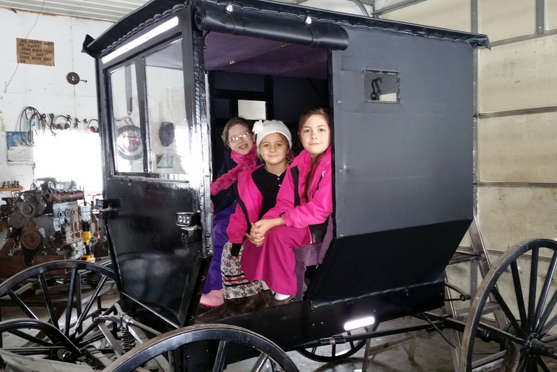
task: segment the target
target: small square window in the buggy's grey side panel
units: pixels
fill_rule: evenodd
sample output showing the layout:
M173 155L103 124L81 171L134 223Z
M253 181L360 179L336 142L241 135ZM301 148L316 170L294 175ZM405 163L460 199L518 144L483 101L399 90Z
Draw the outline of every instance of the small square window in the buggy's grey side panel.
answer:
M364 70L363 79L363 94L366 102L400 102L398 72Z

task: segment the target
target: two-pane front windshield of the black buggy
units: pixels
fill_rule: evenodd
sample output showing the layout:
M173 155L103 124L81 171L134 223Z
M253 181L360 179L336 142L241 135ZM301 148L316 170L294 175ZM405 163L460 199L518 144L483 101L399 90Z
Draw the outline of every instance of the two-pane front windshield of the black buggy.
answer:
M150 178L181 179L191 148L182 67L182 40L173 40L110 72L114 169ZM144 82L139 84L138 82ZM166 173L166 176L163 175Z

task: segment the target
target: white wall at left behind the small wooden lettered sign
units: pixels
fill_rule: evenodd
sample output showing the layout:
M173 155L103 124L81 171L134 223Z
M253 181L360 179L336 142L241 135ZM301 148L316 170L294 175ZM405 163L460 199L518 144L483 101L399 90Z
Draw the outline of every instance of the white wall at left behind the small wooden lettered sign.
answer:
M81 45L86 34L97 38L110 25L0 8L0 186L3 180L19 180L29 189L33 182L31 165L8 166L6 157L6 132L19 130L17 121L25 107L35 107L47 116L52 112L79 120L97 118L95 64L81 53ZM16 38L54 42L54 66L18 65ZM72 71L88 82L69 84L66 75ZM64 165L63 157L53 156L52 161Z

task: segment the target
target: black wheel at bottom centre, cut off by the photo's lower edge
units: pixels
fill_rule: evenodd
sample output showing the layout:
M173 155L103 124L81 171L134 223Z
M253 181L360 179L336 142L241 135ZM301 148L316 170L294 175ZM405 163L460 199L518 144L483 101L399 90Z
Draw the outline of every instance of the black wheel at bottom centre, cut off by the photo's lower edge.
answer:
M211 360L208 364L212 371L223 371L225 368L226 371L264 371L267 361L271 362L272 368L276 368L276 371L299 371L292 359L269 339L234 325L207 324L179 328L150 339L116 359L103 372L134 371L134 369L159 355L196 343L202 344L201 350L207 350L204 344L206 341L216 341L218 344L216 353L214 353L214 360ZM230 360L228 359L229 356L234 357L235 355L232 352L228 353L228 350L237 346L247 347L255 351L256 356L248 361L240 362L242 366L235 369L234 366L230 366ZM200 349L193 348L189 352L192 352L192 350L199 351ZM191 359L191 354L186 355L185 358ZM245 362L248 362L249 366L246 366Z

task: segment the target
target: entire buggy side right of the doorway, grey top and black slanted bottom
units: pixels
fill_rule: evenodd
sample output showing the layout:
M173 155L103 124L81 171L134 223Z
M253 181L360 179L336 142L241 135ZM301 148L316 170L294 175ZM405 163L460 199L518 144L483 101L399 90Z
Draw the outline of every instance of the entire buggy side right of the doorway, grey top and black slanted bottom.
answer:
M336 240L316 302L442 280L473 212L473 47L348 32L331 52Z

